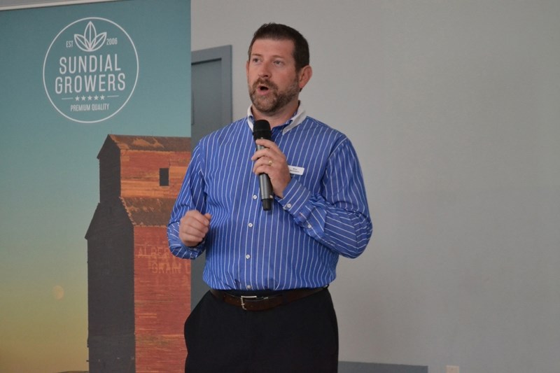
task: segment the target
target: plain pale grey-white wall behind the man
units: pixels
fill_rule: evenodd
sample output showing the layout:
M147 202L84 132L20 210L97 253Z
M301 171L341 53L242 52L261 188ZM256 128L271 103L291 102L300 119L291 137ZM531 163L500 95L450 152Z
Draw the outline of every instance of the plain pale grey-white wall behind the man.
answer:
M253 31L311 45L310 115L362 162L374 237L341 260L341 360L560 367L560 1L192 0L192 48Z

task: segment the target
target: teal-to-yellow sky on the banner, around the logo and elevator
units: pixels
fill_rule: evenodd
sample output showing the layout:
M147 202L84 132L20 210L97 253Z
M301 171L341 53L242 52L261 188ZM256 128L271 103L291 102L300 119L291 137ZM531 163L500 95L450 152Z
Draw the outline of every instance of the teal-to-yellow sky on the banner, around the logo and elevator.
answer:
M43 87L52 41L88 17L122 27L138 55L130 99L92 123L59 113ZM0 372L86 371L97 154L107 134L190 136L190 1L3 10L0 36Z

